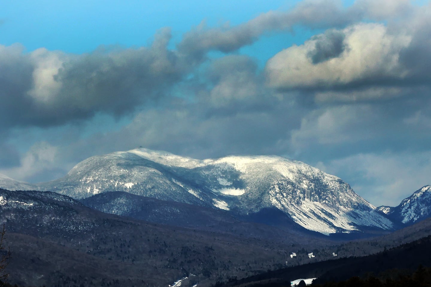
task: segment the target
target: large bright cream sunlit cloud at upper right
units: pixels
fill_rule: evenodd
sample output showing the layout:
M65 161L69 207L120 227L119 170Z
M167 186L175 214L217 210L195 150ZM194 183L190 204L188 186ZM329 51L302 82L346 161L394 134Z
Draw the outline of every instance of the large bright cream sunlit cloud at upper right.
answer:
M381 6L387 9L379 12ZM357 1L351 9L376 19L392 18L387 24L362 22L328 29L277 53L265 67L269 86L338 95L353 92L356 100L368 100L372 94L384 98L376 91L385 87L388 95L397 97L406 87L429 86L430 68L425 63L431 60L431 5L413 9L407 1L367 0ZM365 91L363 97L358 96L360 91Z

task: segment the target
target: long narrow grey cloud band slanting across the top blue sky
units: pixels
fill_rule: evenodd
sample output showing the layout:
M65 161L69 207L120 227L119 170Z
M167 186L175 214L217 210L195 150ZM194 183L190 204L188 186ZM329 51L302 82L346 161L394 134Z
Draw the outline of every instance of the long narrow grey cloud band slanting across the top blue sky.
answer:
M209 28L203 21L183 35L178 50L194 59L201 59L209 51L230 53L253 44L262 34L293 31L296 25L308 28L342 28L362 19L391 20L407 17L413 11L408 0L359 0L344 8L336 0L306 0L293 9L269 11L237 26L226 22L221 27Z

